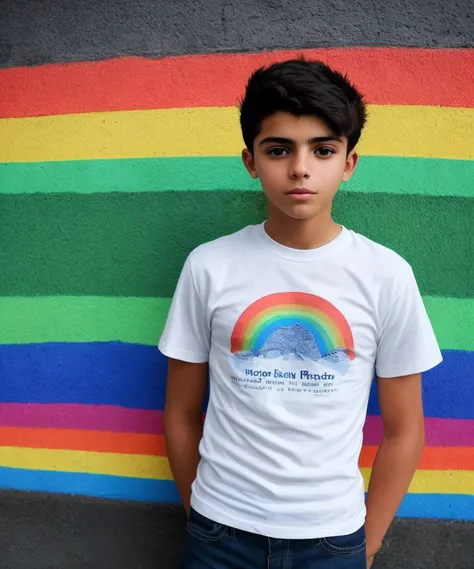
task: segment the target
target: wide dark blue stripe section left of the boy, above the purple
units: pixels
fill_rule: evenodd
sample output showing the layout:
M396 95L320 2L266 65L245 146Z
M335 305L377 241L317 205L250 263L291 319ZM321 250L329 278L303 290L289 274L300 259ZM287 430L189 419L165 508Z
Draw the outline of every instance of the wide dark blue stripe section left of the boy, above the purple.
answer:
M153 346L48 343L0 346L0 401L163 410L166 358Z

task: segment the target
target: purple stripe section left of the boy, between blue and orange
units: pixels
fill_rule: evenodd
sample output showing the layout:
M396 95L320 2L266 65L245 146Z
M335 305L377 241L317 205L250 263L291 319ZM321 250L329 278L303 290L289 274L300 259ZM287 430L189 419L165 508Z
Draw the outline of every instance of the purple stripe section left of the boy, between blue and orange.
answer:
M163 413L114 405L0 403L0 426L163 434Z

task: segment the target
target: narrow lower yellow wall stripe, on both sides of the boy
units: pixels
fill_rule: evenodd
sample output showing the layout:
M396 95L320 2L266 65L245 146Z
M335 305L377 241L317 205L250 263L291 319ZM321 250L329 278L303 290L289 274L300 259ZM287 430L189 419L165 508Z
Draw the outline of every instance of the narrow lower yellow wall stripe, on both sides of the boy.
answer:
M172 480L167 458L135 454L0 447L0 466ZM371 469L363 468L361 472L367 489ZM409 491L474 495L474 471L418 470Z

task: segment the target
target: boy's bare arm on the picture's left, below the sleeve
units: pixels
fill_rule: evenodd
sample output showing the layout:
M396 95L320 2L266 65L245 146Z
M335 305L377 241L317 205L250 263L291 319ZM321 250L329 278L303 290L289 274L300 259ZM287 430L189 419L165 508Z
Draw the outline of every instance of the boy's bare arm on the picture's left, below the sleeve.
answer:
M186 513L191 485L200 461L202 408L206 394L207 363L169 359L164 412L168 459Z

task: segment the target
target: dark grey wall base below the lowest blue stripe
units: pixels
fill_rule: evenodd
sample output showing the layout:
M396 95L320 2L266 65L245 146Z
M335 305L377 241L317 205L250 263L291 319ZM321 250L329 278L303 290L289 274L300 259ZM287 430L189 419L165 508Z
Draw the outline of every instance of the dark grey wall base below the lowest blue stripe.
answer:
M0 492L1 569L177 569L178 506ZM472 569L474 523L399 519L373 569Z

